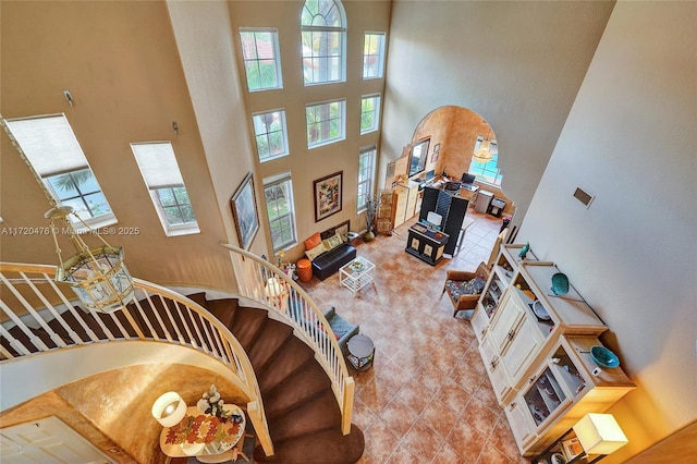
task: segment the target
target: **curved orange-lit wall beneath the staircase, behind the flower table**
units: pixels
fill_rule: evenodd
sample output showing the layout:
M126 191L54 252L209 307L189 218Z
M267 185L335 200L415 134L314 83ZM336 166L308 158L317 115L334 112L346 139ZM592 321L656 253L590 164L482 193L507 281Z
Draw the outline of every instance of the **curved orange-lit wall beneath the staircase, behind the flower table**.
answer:
M41 394L0 417L9 427L57 416L115 462L164 463L159 447L162 427L150 415L155 400L176 391L189 406L216 384L223 401L245 407L248 399L209 370L188 365L136 365L86 377Z

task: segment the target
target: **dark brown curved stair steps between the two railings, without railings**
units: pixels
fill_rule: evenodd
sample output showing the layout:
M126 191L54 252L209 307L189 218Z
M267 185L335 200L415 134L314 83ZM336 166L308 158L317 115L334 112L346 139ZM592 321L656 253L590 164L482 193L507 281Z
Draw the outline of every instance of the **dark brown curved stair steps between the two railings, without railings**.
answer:
M327 373L315 352L293 335L293 328L268 312L240 306L237 300L189 298L215 315L245 349L257 375L276 453L254 451L259 463L355 463L364 437L352 425L341 432L341 413Z

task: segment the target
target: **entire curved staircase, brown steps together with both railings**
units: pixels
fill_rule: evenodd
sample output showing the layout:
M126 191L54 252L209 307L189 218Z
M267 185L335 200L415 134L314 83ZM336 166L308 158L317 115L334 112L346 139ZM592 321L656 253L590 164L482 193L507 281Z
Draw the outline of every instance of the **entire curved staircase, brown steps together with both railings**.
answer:
M53 267L0 262L0 309L14 322L9 328L0 326L3 373L21 370L22 359L50 363L52 356L47 352L58 355L69 353L63 350L66 347L103 346L105 342L191 347L205 355L200 361L228 366L236 376L234 382L252 399L247 414L257 432L255 462L355 463L365 441L360 429L351 424L354 383L337 341L328 335L330 326L285 276L280 278L285 279L290 292L288 305L269 305L258 276L278 276L277 270L264 268L266 265L252 255L246 257L249 259L243 265L247 269L237 274L240 297L264 309L241 306L237 298L208 301L205 293L185 298L135 279L137 292L145 297L136 297L114 313L83 312L52 281ZM42 309L29 304L37 298ZM12 308L27 312L26 323ZM34 368L41 366L35 363ZM101 371L90 367L94 374ZM51 382L28 389L13 384L2 396L3 408L56 388L69 377L54 379L52 387Z

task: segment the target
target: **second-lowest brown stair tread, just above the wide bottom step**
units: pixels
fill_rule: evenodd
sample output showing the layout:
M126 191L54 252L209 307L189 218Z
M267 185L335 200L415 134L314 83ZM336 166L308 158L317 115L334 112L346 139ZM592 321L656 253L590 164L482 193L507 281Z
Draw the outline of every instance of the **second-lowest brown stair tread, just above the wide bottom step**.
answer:
M282 416L270 419L269 431L273 441L281 441L326 428L340 429L340 424L341 413L337 398L331 390L325 390Z

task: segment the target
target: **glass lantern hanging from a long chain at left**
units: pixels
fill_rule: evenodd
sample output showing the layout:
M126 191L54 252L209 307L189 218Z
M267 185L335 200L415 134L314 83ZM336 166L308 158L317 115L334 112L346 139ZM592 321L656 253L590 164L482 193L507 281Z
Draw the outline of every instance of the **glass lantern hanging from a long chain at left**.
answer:
M26 154L14 138L8 124L0 115L0 124L12 141L12 145L20 152L20 157L29 168L32 175L37 181L44 194L48 198L51 209L44 215L51 227L51 235L56 244L59 265L56 272L57 282L65 282L75 292L82 305L86 309L101 313L112 313L127 305L134 296L133 278L123 262L123 249L120 246L111 246L99 234L87 225L73 211L70 206L60 206L48 191L44 181L29 162ZM69 215L77 218L84 229L76 231L68 219ZM60 224L60 227L57 225ZM58 234L65 234L75 246L77 254L63 261L58 244ZM101 241L101 245L89 248L82 236L93 235Z

